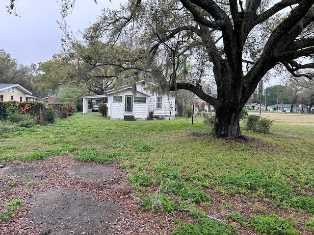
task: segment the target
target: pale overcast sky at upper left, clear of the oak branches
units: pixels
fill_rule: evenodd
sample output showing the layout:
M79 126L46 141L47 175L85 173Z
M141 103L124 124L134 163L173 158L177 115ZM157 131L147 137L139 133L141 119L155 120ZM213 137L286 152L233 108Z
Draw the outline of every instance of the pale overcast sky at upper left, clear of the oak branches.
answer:
M67 17L70 30L88 27L101 15L102 9L116 9L123 0L76 0L72 14ZM18 0L16 13L10 15L0 0L0 49L11 54L19 63L30 65L50 60L60 50L62 31L56 21L61 20L60 5L56 0Z

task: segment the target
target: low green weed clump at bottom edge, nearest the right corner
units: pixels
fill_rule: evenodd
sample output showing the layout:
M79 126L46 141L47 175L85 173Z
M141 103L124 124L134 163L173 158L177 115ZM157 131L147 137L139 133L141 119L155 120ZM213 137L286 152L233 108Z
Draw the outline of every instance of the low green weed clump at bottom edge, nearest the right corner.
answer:
M249 219L250 226L255 228L259 233L269 235L298 235L294 229L295 222L289 222L288 219L280 218L276 214L269 216L258 215Z

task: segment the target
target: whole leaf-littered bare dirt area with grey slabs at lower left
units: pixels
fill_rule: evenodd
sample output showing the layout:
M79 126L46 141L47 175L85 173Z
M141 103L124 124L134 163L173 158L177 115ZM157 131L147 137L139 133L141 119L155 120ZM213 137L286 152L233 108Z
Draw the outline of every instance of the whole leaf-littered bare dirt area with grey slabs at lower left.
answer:
M0 169L0 213L5 203L23 207L0 235L117 234L130 187L115 164L80 163L62 157L33 163L12 162ZM124 204L127 203L127 204Z

